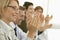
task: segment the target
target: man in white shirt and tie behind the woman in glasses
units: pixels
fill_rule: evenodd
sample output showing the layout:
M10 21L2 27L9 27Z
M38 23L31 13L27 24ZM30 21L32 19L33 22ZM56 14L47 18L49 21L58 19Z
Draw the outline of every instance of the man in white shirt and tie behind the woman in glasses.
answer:
M10 22L10 26L15 29L16 28L16 33L15 35L18 37L19 40L25 40L26 38L26 33L23 32L23 30L18 26L21 24L21 22L24 20L24 16L25 16L25 8L22 6L19 6L19 14L16 15L17 18L16 20L13 20L12 22Z

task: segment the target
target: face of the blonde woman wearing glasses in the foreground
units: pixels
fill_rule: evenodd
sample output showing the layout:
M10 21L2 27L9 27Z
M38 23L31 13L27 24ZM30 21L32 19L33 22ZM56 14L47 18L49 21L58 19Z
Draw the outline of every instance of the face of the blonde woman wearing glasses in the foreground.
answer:
M10 4L6 7L4 17L9 21L15 21L17 14L19 13L19 6L16 1L11 1Z

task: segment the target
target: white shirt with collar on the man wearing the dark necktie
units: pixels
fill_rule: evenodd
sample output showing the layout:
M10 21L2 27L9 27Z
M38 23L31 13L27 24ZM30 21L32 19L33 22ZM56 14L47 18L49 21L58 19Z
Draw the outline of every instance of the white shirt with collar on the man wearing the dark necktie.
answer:
M16 27L17 31L17 37L19 40L25 40L26 39L26 33L22 31L17 25L15 25L13 22L10 22L9 24L13 29Z

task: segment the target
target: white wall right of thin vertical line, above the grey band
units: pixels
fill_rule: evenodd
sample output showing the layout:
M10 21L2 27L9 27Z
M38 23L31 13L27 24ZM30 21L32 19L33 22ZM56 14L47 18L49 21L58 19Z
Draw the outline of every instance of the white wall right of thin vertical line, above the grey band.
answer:
M52 23L60 24L60 0L49 0L49 14L53 14Z

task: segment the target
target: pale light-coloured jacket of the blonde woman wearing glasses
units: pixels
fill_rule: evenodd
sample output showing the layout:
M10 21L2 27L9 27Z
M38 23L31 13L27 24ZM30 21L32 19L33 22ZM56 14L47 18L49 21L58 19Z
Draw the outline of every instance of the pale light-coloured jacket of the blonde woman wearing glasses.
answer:
M14 30L2 20L0 20L0 40L18 40Z

